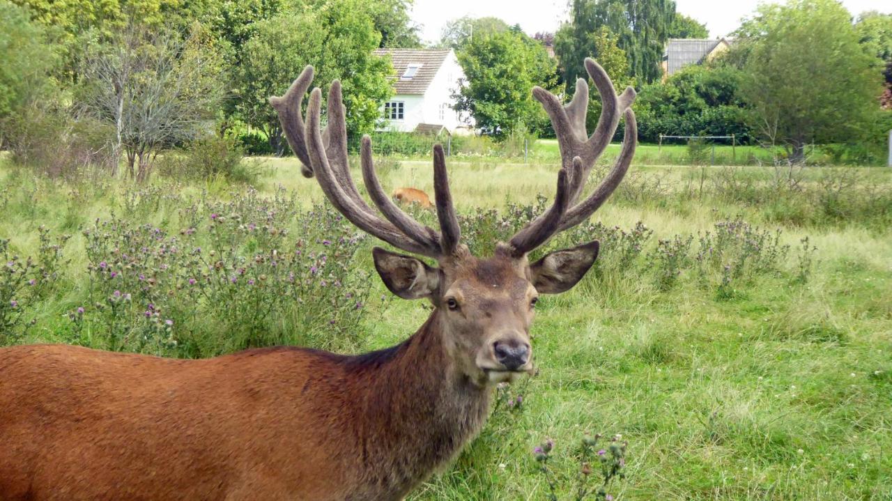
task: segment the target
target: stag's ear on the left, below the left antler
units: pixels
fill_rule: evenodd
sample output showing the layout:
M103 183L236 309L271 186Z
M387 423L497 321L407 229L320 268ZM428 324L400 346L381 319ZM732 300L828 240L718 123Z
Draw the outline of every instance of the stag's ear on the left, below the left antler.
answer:
M440 272L421 259L396 254L380 247L372 249L375 269L384 285L404 300L429 297L440 284Z

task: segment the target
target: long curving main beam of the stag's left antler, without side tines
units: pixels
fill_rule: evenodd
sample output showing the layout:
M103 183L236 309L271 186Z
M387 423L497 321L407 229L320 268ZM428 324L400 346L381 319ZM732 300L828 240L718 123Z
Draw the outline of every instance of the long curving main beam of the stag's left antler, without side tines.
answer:
M432 258L439 257L439 249L415 242L405 234L402 234L396 226L376 217L371 212L371 209L368 208L368 205L365 202L361 202L361 199L357 201L351 198L350 194L344 192L342 186L337 182L337 175L328 163L322 132L319 129L321 108L322 91L317 87L310 93L310 103L307 105L307 127L304 141L307 144L310 166L318 178L319 186L322 188L323 193L326 194L328 200L335 206L335 209L338 209L344 218L350 220L360 230L376 236L394 247ZM347 171L347 177L349 176L350 173ZM355 190L355 187L353 189Z

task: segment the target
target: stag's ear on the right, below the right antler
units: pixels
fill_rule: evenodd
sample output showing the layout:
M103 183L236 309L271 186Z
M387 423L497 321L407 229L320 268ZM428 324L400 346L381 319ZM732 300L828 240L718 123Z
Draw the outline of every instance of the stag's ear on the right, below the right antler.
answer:
M598 258L597 240L573 249L556 250L530 266L533 287L542 294L569 291Z

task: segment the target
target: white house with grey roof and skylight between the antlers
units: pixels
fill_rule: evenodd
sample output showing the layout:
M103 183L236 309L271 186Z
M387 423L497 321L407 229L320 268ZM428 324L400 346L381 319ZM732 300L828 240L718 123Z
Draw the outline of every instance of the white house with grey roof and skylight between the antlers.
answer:
M451 49L378 49L390 55L396 94L384 103L384 129L438 133L445 128L470 130L474 123L452 107L452 98L465 77Z

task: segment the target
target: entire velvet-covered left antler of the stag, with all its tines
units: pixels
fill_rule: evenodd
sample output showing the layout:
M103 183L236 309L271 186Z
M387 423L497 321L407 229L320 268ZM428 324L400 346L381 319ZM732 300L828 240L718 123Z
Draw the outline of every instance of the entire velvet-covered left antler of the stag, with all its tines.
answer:
M350 174L341 82L332 82L328 91L328 125L324 130L319 127L322 91L318 87L310 93L306 123L301 118L301 99L312 79L313 67L307 66L284 96L269 98L269 103L278 112L288 144L303 164L302 174L305 177L315 176L322 192L335 209L360 230L398 249L416 254L436 259L452 254L458 247L460 232L455 208L452 206L442 146L434 146L434 192L442 229L440 234L411 218L384 193L375 174L371 139L363 136L360 151L362 177L370 198L386 220L379 218L359 195Z

